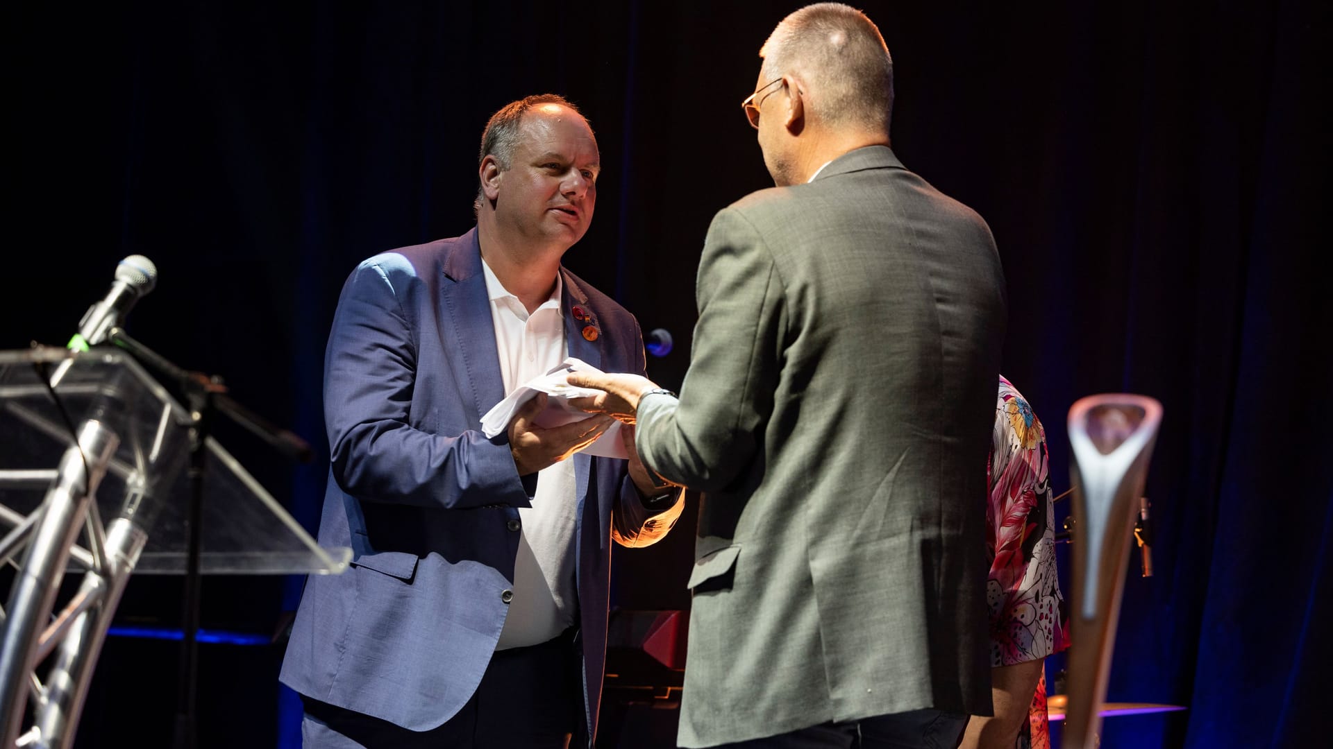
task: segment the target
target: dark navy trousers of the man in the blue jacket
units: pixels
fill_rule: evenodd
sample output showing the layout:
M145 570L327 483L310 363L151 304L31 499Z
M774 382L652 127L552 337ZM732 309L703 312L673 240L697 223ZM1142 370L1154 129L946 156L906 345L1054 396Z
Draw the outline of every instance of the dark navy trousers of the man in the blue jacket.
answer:
M301 696L305 749L565 749L583 730L583 658L571 633L497 650L444 725L416 732Z

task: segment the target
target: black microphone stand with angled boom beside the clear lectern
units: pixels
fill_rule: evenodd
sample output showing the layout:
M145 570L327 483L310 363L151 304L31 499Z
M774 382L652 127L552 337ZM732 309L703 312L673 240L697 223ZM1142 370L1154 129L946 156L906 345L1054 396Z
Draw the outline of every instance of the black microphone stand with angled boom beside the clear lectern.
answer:
M201 372L181 369L129 337L119 327L108 332L107 343L129 352L140 364L176 384L184 393L185 406L189 409L189 538L185 557L185 590L181 614L183 638L172 745L176 749L193 749L196 744L196 674L199 670L200 525L204 508L204 470L207 468L208 436L215 414L221 413L229 417L292 460L309 462L315 453L308 442L292 432L269 424L259 414L232 400L227 394L227 386L223 384L221 377L209 377Z

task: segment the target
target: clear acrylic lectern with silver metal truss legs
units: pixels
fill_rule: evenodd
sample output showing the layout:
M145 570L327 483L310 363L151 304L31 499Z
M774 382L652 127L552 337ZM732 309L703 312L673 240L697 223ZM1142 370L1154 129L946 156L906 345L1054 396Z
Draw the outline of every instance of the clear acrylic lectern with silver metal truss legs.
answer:
M16 570L0 576L12 580L0 612L4 749L71 746L129 574L187 572L193 422L121 351L0 352L0 566ZM321 548L220 444L201 444L200 573L347 568L351 549ZM65 573L81 584L57 608Z

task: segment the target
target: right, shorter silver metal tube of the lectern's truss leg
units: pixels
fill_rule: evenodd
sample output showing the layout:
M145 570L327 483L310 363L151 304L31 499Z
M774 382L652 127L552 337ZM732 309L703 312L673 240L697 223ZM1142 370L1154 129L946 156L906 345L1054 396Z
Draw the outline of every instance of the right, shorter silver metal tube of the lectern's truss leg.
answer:
M148 534L123 517L117 517L107 529L107 570L105 574L88 572L81 588L93 590L105 586L101 601L79 614L69 633L60 644L55 664L47 677L47 692L37 705L37 746L67 749L73 746L79 732L79 716L83 713L92 672L101 654L101 644L115 616L120 596L129 582L129 573L139 562L139 554L148 542Z

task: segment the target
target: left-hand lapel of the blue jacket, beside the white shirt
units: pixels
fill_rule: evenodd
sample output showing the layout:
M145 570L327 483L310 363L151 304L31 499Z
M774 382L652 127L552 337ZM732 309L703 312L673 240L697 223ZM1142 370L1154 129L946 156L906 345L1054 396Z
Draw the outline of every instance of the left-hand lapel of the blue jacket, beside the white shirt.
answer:
M480 425L481 414L504 398L504 378L500 376L491 296L481 273L481 245L475 228L453 243L443 265L441 312L453 325L455 341L455 347L449 347L449 340L444 341L445 359L460 390L471 390L476 406L473 422Z

